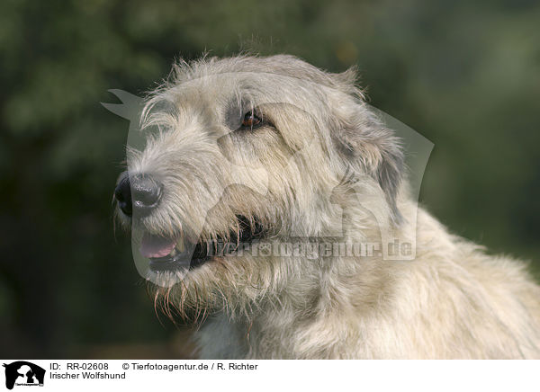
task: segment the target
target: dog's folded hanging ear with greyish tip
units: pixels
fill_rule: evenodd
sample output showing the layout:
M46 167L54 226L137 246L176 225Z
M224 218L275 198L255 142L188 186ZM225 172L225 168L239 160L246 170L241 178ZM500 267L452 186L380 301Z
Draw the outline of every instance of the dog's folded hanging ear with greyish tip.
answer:
M365 104L348 103L340 107L338 129L333 135L338 154L356 173L374 178L385 194L392 220L399 223L401 214L396 199L404 166L400 138Z

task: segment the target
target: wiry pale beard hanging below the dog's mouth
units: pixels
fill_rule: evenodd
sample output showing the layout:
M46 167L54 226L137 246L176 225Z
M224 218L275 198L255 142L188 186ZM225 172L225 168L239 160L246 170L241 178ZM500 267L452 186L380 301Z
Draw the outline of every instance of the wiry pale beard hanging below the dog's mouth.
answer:
M176 272L160 272L161 286L149 284L156 311L175 321L200 325L214 313L230 319L249 320L265 302L282 307L281 293L288 287L292 270L310 274L300 259L280 257L216 257L178 280ZM294 265L299 264L299 265ZM302 273L296 273L293 278ZM169 280L175 284L166 287ZM289 287L289 289L291 289ZM302 286L305 289L305 286Z

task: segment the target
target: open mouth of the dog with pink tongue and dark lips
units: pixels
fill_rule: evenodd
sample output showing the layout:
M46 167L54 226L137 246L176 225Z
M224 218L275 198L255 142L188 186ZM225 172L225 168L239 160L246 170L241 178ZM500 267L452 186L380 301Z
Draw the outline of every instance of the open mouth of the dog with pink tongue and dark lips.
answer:
M257 221L237 216L238 231L230 231L229 238L216 236L212 241L189 243L177 238L153 236L148 233L142 237L140 254L150 260L152 272L166 272L180 269L193 269L216 257L235 254L253 242L260 240L266 230Z

